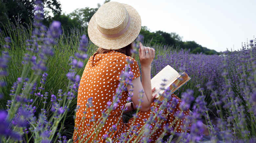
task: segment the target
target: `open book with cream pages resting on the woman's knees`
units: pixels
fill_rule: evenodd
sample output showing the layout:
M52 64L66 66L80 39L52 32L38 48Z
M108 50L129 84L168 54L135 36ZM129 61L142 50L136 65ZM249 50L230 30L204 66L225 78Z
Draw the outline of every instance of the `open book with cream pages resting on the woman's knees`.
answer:
M161 90L163 88L161 86L162 83L166 85L164 89L170 88L171 92L173 93L189 80L190 77L188 77L185 72L180 75L179 72L167 65L151 79L152 89L156 87L156 90L152 93L152 95L158 94L156 100L163 101L164 97L161 96L161 94L164 92L164 90Z

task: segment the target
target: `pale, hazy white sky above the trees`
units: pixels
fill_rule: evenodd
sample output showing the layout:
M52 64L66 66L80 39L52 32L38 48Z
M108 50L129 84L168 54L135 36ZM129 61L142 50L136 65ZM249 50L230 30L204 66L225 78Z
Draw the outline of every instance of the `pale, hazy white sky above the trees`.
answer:
M237 51L256 36L256 0L111 0L134 7L151 32L175 32L217 52ZM62 12L97 8L104 0L59 0Z

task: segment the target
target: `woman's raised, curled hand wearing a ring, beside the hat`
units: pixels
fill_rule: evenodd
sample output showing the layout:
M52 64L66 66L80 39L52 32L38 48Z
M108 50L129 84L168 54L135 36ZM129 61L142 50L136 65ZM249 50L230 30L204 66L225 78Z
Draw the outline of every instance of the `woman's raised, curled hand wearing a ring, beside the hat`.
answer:
M139 61L141 67L150 67L155 57L155 49L145 47L139 42Z

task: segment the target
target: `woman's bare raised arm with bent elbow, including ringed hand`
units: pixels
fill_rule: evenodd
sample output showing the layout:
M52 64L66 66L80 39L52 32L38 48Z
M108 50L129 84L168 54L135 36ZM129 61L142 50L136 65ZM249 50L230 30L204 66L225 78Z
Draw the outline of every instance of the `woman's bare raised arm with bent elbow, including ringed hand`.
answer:
M150 109L150 104L152 103L152 89L151 89L151 63L155 57L155 50L150 47L145 47L141 43L139 43L139 61L141 64L141 74L142 74L142 81L140 78L135 78L132 80L133 83L133 97L132 101L134 105L139 104L139 95L141 94L140 91L142 90L143 97L141 108L139 111L145 112ZM145 53L147 52L147 53ZM129 91L131 87L128 86L127 89ZM155 96L154 96L155 97Z

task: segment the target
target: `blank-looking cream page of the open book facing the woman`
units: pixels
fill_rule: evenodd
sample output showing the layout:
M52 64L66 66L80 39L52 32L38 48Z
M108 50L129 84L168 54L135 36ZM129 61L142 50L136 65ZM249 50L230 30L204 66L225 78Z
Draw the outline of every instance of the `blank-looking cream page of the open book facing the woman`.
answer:
M174 70L171 66L167 65L164 67L160 72L157 73L157 75L151 79L152 89L156 87L156 90L152 93L152 95L160 92L160 88L163 88L161 84L164 83L164 79L167 80L164 84L168 85L169 83L173 82L173 80L175 80L179 75L179 72Z

